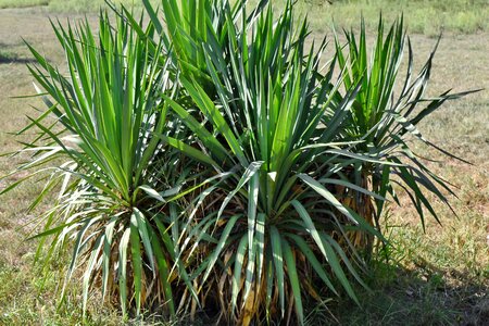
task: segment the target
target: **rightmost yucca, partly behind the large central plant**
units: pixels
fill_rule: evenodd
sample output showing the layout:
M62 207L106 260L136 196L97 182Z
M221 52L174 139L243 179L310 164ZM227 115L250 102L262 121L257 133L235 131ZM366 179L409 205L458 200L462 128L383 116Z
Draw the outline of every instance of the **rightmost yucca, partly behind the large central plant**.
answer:
M359 37L353 30L344 30L344 37L347 43L342 46L338 35L335 34L339 67L344 71L344 89L348 90L356 83L361 83L351 106L350 123L346 126L347 139L361 140L354 148L355 152L373 154L381 160L380 163L364 162L354 166L349 172L350 180L362 188L372 189L383 198L390 195L399 203L393 187L398 185L408 192L423 226L424 210L428 210L440 222L425 191L431 192L450 209L443 191L451 195L454 192L450 183L429 171L421 156L412 151L409 140L419 140L451 155L425 139L416 125L446 101L459 99L472 91L451 93L448 90L438 97L426 98L432 60L440 39L419 74L415 76L413 50L408 38L408 71L405 74L400 72L406 43L402 16L393 22L387 35L380 16L377 40L371 55L367 53L368 45L363 20ZM359 193L352 196L341 191L337 196L342 202L380 229L378 220L385 205L384 200L376 200L374 205L369 196ZM372 237L355 234L355 244L367 247L367 252L372 250Z

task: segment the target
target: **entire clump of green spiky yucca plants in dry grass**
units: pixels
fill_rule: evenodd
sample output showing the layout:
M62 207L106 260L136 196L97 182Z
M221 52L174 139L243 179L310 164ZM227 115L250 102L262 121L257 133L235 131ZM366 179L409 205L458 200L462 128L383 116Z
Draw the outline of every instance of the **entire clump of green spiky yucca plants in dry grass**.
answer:
M59 188L35 237L51 236L47 262L73 246L66 280L85 268L84 305L100 285L124 313L303 324L309 299L342 288L358 302L365 248L351 234L385 241L393 185L422 221L424 208L437 217L422 188L448 202L406 139L431 145L416 124L465 93L424 98L432 54L411 82L411 46L401 77L402 20L386 38L380 21L369 63L363 24L348 54L336 38L323 70L326 41L308 45L294 1L278 17L265 2L248 15L239 0L143 1L149 23L113 7L98 40L88 23L57 25L68 77L30 47L48 109L21 131L40 130L14 173L46 166L25 178L47 178L32 209Z

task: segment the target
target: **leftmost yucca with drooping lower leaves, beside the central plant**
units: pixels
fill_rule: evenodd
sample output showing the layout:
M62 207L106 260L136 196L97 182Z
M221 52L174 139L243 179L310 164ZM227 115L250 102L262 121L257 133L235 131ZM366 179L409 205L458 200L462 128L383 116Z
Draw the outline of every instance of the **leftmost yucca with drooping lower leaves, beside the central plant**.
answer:
M139 313L153 302L167 302L174 313L171 283L185 279L175 275L185 272L172 272L171 222L161 206L186 172L179 170L179 154L161 141L177 129L167 124L163 100L176 89L170 61L162 65L161 58L151 57L152 25L140 37L124 17L112 23L101 13L99 28L95 35L88 22L67 28L53 24L66 74L29 46L38 63L29 71L46 109L20 133L37 129L38 136L21 150L32 155L14 173L32 172L23 180L46 180L30 209L59 190L40 217L38 258L49 263L59 250L72 250L66 281L82 266L84 311L90 288L100 285L103 297L120 297L124 313L131 308Z

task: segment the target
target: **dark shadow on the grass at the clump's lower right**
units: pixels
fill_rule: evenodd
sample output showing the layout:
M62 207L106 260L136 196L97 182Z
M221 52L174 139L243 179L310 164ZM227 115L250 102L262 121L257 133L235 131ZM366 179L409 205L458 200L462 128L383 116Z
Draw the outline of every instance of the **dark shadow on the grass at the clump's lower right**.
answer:
M372 291L356 289L362 306L334 299L328 309L310 313L310 325L489 325L489 289L481 279L426 261L410 268L375 262Z

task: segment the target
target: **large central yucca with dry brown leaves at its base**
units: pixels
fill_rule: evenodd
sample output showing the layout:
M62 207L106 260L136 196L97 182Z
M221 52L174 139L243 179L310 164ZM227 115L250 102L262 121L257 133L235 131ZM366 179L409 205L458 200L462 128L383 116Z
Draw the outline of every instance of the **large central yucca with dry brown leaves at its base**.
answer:
M355 267L362 261L353 246L341 248L333 234L356 228L375 234L331 192L341 185L378 198L338 173L354 162L376 162L350 152L355 142L341 138L359 88L337 96L341 84L333 84L334 62L326 74L319 70L325 42L306 50L308 25L296 33L291 2L277 21L271 7L252 25L226 16L229 48L203 45L216 96L181 76L193 104L166 98L196 137L195 142L168 138L168 143L212 175L193 200L181 242L203 243L202 304L216 300L223 314L243 325L265 317L290 321L286 312L293 308L293 319L302 324L303 294L318 299L323 288L336 292L333 275L356 300L344 268L362 283ZM200 120L188 113L195 109Z

